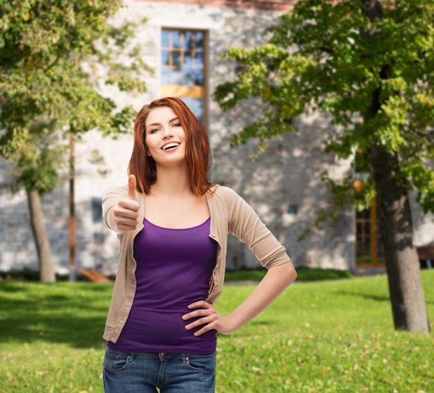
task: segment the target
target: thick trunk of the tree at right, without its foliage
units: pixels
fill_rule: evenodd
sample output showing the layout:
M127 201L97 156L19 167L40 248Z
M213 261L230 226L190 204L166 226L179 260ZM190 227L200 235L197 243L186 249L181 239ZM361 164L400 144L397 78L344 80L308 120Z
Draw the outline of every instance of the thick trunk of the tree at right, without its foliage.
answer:
M408 191L396 178L399 159L380 146L372 146L371 153L394 327L428 332Z

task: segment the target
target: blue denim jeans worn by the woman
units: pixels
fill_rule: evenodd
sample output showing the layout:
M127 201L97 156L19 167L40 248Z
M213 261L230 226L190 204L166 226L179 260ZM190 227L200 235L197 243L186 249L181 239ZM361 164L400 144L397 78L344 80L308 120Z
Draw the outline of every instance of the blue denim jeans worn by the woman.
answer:
M105 349L105 393L213 393L216 353L124 353Z

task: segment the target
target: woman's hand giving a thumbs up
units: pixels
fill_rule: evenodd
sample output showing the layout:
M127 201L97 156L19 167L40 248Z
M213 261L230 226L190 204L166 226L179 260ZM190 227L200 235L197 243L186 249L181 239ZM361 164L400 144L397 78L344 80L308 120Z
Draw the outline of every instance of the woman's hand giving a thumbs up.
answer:
M137 200L136 177L128 178L128 198L119 200L113 209L114 222L118 233L133 231L139 225L139 202Z

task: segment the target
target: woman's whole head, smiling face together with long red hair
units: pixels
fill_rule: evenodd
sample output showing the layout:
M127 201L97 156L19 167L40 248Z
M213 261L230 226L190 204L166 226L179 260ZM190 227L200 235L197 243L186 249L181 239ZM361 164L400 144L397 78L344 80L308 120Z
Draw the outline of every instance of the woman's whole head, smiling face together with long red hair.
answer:
M162 149L166 143L174 145ZM205 195L211 186L211 162L207 132L184 101L164 97L141 107L134 121L134 145L128 164L128 173L135 175L139 191L148 195L157 181L157 167L172 165L184 168L194 195Z

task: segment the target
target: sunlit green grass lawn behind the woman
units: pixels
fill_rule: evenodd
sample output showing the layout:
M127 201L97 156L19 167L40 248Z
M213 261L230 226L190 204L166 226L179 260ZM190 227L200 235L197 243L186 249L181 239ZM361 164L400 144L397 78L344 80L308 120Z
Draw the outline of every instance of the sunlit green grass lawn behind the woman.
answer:
M434 323L434 270L423 270ZM232 311L253 286L225 286ZM0 281L0 392L102 392L112 284ZM295 283L218 338L217 393L433 393L433 333L396 332L385 276Z

